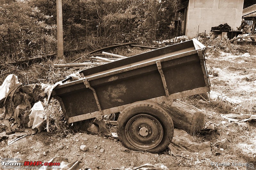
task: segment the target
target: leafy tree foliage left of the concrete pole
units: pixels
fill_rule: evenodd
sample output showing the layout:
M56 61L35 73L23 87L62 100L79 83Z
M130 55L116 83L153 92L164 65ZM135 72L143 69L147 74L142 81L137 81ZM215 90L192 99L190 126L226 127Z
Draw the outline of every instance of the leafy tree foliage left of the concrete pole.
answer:
M56 25L47 24L52 16L45 15L27 1L1 0L0 55L15 60L53 51ZM44 44L47 41L47 45Z

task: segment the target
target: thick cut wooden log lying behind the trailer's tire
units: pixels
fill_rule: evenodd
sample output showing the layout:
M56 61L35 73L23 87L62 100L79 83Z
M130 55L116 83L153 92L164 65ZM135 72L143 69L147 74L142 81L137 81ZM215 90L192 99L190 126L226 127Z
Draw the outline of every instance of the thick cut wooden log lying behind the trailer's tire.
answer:
M205 114L195 106L175 100L171 106L165 103L162 107L171 115L174 128L185 130L190 134L204 128Z

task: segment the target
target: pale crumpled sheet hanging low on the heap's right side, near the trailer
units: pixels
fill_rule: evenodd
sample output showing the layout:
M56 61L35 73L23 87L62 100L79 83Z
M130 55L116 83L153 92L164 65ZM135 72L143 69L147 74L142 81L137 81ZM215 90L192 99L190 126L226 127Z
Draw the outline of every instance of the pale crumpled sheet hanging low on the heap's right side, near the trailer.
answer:
M40 132L43 128L44 122L44 103L37 102L34 106L30 109L29 114L29 122L28 127L32 126L32 129L37 128L38 132Z

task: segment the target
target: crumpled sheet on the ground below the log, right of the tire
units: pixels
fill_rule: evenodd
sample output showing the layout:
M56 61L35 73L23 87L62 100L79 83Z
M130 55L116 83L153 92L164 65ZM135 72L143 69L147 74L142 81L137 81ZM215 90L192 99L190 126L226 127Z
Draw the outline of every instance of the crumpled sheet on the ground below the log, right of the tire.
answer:
M168 148L174 156L184 151L211 153L210 142L196 143L191 135L181 129L174 129L172 142Z

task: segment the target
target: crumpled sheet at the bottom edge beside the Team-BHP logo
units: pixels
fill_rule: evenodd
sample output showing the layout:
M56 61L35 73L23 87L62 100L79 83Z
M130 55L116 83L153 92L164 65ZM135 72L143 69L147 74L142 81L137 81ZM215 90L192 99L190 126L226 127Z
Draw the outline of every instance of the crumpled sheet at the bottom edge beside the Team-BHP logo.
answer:
M62 157L55 157L44 162L60 162L60 166L41 166L39 169L77 170L81 168L78 161L68 163L67 160Z

